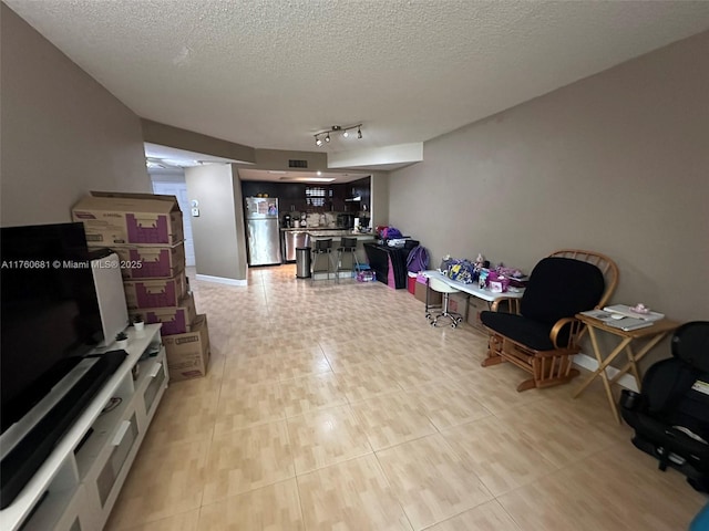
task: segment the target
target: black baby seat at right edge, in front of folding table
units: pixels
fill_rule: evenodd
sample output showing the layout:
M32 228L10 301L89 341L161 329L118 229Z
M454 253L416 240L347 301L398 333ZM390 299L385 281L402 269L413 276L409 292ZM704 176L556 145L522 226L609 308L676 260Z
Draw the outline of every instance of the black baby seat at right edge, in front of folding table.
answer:
M643 392L623 391L623 418L635 429L633 444L675 468L696 490L709 492L709 322L675 331L672 357L655 363Z

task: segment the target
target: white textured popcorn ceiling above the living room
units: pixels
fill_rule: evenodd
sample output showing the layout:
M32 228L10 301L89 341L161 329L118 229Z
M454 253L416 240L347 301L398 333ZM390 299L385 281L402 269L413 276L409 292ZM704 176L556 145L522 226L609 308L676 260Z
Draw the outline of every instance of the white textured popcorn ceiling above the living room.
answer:
M4 1L137 115L298 150L423 142L709 28L709 1Z

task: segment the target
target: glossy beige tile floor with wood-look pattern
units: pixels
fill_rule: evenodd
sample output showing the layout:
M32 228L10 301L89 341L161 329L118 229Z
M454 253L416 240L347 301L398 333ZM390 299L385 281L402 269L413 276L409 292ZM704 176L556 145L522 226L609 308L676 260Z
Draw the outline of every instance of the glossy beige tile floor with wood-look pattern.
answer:
M470 325L379 282L194 280L205 378L172 384L109 530L682 530L707 501L595 383L517 393Z

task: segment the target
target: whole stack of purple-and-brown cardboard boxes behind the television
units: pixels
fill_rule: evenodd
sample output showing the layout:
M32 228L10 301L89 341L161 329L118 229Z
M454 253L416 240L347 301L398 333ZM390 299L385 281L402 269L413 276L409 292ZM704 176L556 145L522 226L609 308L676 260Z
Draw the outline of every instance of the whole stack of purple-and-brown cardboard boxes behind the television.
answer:
M163 324L171 378L204 376L209 360L207 320L197 315L189 292L177 199L92 191L74 205L72 216L83 221L90 247L107 247L119 254L131 320L140 314L147 324ZM189 371L184 369L187 362Z

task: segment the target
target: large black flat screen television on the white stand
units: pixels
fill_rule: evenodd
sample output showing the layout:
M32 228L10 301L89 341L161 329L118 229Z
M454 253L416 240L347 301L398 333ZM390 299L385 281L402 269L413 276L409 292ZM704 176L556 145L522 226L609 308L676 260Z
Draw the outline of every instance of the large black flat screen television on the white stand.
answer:
M0 229L2 431L102 337L83 223Z

